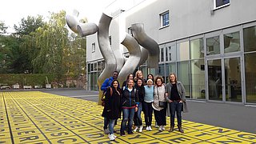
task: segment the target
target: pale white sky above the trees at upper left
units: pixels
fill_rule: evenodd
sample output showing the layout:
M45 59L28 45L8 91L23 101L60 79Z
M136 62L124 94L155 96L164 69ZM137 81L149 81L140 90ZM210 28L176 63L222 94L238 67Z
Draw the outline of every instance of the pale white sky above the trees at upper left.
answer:
M0 21L6 26L18 25L22 18L27 16L50 16L49 12L58 13L66 10L67 14L73 14L78 10L80 18L87 18L89 22L98 24L98 20L104 10L111 7L116 0L5 0L1 2ZM10 30L10 29L9 29Z

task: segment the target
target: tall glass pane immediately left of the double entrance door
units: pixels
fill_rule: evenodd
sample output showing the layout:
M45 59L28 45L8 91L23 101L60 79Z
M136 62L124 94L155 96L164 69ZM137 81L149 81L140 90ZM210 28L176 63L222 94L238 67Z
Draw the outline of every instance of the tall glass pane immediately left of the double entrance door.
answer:
M205 65L204 59L193 60L190 62L191 71L191 98L205 99Z

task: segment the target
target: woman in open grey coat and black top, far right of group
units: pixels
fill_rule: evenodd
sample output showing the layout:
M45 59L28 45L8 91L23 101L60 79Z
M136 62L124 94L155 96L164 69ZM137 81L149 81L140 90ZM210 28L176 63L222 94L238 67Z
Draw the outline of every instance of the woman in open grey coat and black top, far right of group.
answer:
M182 82L177 81L174 73L169 75L170 82L166 85L166 102L169 102L167 107L167 114L170 116L170 132L174 131L174 118L177 114L178 131L184 133L182 130L182 108L183 103L186 102L185 88Z

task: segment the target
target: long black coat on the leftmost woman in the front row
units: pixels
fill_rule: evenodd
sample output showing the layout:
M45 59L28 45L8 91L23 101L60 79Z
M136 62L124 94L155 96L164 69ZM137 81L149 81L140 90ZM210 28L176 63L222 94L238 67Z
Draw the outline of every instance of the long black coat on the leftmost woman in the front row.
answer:
M102 112L102 117L110 118L110 119L118 119L121 118L121 94L122 90L118 88L118 92L114 89L114 87L111 87L113 94L110 95L110 88L106 90L106 103L104 106L104 110Z

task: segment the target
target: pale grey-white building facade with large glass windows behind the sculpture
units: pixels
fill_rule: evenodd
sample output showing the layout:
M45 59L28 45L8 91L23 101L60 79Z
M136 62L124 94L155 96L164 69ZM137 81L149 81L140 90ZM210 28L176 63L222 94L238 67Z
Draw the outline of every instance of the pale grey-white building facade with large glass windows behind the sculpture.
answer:
M146 0L120 10L110 24L114 53L129 55L121 45L130 26L143 23L160 48L159 67L138 66L143 74L174 72L195 100L256 104L256 1ZM97 34L87 36L87 90L98 90L104 69Z

